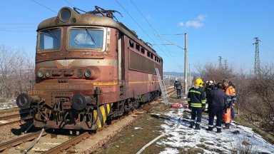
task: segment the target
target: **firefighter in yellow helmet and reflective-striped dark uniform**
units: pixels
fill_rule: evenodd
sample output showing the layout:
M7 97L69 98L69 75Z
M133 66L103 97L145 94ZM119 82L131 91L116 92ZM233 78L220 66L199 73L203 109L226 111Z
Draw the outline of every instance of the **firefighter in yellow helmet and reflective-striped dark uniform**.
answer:
M193 128L194 121L196 120L196 130L200 130L200 123L202 120L202 112L205 111L205 92L202 89L203 80L197 78L195 85L188 91L188 108L191 109L191 125L189 128Z

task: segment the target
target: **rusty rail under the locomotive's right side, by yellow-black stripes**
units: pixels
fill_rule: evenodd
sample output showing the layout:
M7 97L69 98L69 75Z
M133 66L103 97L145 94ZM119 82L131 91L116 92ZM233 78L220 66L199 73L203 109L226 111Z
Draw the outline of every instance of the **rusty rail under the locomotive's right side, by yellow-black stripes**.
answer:
M47 150L44 154L62 153L64 150L71 148L72 145L76 145L77 143L81 142L81 140L83 140L84 138L88 138L89 136L91 136L91 134L89 134L88 132L82 133L81 135L78 135L71 140L62 143L61 145L51 148L51 150Z

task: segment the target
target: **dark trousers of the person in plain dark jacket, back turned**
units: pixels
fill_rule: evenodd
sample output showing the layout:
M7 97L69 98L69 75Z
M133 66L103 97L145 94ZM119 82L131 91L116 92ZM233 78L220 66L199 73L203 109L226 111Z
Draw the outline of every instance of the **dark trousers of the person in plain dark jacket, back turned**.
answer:
M209 120L208 120L208 127L213 128L213 120L214 116L217 116L216 125L217 128L222 128L222 116L223 116L223 106L210 106L210 112L208 113Z

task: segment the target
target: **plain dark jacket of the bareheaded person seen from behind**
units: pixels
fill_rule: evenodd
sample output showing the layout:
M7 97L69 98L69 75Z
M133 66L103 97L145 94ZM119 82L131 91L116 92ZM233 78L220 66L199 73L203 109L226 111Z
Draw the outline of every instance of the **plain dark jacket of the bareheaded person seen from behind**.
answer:
M210 106L225 106L227 96L221 89L211 91Z

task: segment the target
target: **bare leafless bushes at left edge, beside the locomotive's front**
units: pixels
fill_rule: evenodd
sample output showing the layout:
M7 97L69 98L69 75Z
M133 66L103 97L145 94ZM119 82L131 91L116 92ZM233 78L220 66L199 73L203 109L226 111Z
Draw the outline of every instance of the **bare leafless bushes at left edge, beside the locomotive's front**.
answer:
M0 46L0 95L2 98L14 98L30 88L34 81L34 60L22 49Z

